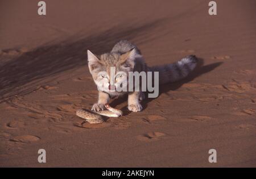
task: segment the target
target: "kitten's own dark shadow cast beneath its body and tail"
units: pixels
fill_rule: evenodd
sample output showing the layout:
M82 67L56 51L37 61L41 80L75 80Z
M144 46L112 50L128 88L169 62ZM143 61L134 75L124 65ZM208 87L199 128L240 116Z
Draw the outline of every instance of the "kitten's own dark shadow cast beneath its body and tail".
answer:
M214 70L215 68L217 68L218 66L220 66L222 64L222 62L218 62L218 63L209 64L209 65L204 65L204 60L203 59L199 58L198 60L199 60L199 63L197 64L195 70L193 70L193 72L191 72L188 75L188 77L184 78L183 80L177 81L177 82L172 82L172 83L160 85L159 86L159 95L158 95L158 97L162 93L167 93L170 90L174 91L174 90L179 89L183 84L186 84L186 83L192 81L193 79ZM143 110L147 108L147 105L148 105L149 102L156 99L156 98L147 98L146 93L145 93L145 96L146 96L146 99L144 99L141 102ZM127 96L114 99L112 102L110 102L110 106L116 107L118 105L121 105L121 103L127 103ZM127 109L127 105L122 107L121 110L123 111L123 115L128 115L128 114L131 113L131 111L129 111Z

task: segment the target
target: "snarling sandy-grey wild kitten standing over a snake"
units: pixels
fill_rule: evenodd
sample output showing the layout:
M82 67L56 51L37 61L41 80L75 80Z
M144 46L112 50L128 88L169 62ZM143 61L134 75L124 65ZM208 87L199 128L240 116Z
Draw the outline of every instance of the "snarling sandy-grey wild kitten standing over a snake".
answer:
M94 55L88 50L88 66L90 73L96 85L105 80L106 85L110 89L110 67L115 67L115 83L122 82L122 76L118 72L159 72L159 84L166 84L184 78L191 72L197 64L195 56L187 56L177 61L174 64L159 65L148 67L144 63L143 56L139 49L127 40L121 40L114 45L109 53L104 53L100 56ZM99 72L106 72L108 75L102 76ZM128 76L128 75L127 75ZM104 79L103 79L104 78ZM108 88L108 87L107 87ZM109 102L110 98L119 95L128 94L128 109L130 111L138 112L142 110L140 101L144 99L144 94L141 91L109 91L108 89L99 91L98 102L93 105L92 110L105 110L105 104Z

